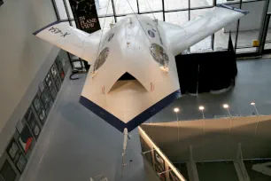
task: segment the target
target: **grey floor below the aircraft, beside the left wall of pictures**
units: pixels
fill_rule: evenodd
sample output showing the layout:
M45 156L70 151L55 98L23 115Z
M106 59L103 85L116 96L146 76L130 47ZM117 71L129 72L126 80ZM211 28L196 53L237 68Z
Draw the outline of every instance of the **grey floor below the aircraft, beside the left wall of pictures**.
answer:
M66 79L21 181L74 181L104 175L120 181L123 134L79 104L84 78ZM137 130L131 132L122 180L156 180L144 169Z

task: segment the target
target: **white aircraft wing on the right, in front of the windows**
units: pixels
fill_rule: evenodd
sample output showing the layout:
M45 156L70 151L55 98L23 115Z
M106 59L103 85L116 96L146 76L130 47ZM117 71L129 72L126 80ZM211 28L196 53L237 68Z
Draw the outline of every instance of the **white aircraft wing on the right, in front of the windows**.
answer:
M162 21L159 23L164 29L169 50L178 55L247 13L249 12L220 4L182 27Z

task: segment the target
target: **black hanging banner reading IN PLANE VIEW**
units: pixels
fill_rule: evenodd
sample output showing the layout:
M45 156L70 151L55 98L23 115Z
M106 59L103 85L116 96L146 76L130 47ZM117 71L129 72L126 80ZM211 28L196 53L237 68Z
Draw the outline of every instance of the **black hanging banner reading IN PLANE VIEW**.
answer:
M76 27L89 34L101 29L95 0L69 0ZM97 0L98 1L98 0Z

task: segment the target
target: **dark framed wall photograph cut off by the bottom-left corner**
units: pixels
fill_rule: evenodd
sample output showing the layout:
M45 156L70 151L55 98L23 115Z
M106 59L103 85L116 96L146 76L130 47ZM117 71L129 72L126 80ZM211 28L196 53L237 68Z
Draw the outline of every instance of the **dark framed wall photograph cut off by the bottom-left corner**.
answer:
M17 177L14 169L12 169L12 165L9 161L4 161L4 165L0 169L0 180L4 179L4 181L14 181Z

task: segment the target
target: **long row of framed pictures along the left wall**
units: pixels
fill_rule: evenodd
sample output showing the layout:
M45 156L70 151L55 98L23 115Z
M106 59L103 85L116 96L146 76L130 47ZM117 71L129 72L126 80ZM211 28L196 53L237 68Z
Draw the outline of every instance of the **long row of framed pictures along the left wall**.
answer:
M43 82L35 89L26 113L0 157L0 181L18 181L27 166L58 91L70 68L64 52L59 53Z

